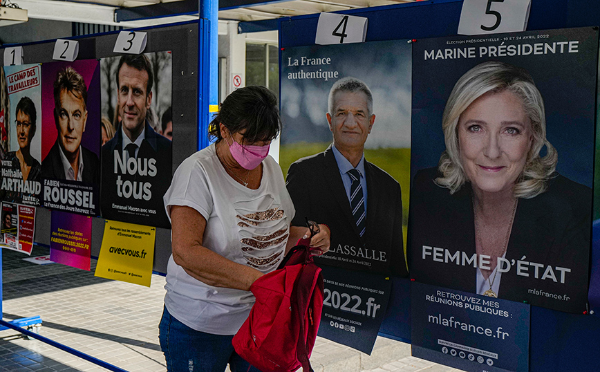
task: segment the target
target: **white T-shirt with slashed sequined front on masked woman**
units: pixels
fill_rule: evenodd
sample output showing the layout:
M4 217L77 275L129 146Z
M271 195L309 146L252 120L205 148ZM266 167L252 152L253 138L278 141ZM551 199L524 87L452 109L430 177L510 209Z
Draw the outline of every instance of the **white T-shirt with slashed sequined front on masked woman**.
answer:
M285 253L295 210L281 168L268 156L258 189L248 189L227 174L215 145L196 152L178 167L164 197L172 205L194 208L206 218L203 246L221 256L270 272ZM183 324L206 333L234 335L254 304L252 292L209 286L178 266L167 266L165 306Z

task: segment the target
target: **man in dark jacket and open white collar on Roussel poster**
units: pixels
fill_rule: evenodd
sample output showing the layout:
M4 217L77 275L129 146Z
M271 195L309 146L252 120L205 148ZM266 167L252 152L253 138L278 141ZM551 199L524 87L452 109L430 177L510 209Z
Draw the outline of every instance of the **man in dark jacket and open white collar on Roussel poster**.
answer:
M53 92L57 139L41 162L41 176L97 184L98 157L81 145L88 119L84 78L71 66L62 68L56 75Z

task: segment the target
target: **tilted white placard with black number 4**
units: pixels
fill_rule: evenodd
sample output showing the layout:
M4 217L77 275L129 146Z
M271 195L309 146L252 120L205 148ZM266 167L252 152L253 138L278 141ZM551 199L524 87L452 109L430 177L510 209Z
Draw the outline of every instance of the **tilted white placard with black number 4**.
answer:
M315 44L362 43L366 37L368 19L353 15L321 13Z

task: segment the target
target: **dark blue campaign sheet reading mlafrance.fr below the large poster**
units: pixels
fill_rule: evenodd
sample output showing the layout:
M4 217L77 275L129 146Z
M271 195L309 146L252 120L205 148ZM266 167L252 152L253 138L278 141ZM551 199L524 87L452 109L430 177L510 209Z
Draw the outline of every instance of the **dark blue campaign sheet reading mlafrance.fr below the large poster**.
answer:
M531 306L412 283L412 355L472 372L529 371Z

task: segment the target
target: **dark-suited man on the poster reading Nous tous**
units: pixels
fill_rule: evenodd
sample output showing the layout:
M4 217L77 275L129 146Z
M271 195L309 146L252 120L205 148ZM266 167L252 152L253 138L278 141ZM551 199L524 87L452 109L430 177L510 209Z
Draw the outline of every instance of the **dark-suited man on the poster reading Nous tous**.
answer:
M120 58L115 136L102 146L104 218L170 227L162 196L171 184L171 141L153 129L153 72L145 55ZM142 218L140 218L140 216Z

